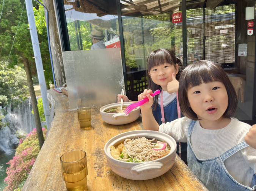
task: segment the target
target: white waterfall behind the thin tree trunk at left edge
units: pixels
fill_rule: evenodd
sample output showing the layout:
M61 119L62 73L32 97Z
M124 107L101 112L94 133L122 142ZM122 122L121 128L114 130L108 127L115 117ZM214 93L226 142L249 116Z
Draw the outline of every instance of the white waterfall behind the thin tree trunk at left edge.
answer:
M40 97L37 97L37 99ZM20 103L16 108L11 110L8 106L8 114L3 120L6 126L0 130L0 155L3 153L10 154L19 144L16 132L30 133L36 128L36 123L32 111L31 98L28 97L24 102ZM42 127L46 122L41 122Z

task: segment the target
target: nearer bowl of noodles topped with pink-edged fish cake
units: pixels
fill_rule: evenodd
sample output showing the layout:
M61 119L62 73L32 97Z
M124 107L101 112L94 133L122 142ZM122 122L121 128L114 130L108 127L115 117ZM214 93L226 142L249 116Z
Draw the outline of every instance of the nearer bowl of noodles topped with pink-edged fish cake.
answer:
M173 166L175 140L162 132L137 130L119 134L105 147L110 169L131 180L148 180L161 176Z

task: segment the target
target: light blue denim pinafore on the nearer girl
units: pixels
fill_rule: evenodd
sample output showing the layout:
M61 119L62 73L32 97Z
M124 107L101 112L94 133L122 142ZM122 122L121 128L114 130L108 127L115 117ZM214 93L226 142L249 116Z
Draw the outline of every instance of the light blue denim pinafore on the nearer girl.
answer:
M209 191L254 191L256 190L256 175L254 174L251 188L234 180L224 166L224 161L232 154L240 151L248 145L243 141L229 149L221 156L200 160L192 149L190 136L196 121L192 121L188 127L188 167L201 180Z

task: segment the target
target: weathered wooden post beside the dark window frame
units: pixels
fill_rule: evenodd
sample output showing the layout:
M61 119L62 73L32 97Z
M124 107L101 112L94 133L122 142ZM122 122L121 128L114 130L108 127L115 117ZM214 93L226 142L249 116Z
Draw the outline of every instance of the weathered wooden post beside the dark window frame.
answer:
M49 34L50 46L52 49L52 63L55 73L56 86L61 87L66 83L66 76L64 71L61 42L59 38L59 31L55 17L55 11L52 0L43 0L44 6L49 10ZM44 10L46 15L46 10Z

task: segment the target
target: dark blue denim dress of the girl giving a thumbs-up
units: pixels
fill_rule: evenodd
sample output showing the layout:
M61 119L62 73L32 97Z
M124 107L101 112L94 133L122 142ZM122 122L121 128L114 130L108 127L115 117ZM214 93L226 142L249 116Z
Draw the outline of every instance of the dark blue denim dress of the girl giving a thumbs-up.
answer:
M160 126L162 124L162 114L161 114L161 106L157 103L156 109L153 111L153 116ZM165 116L165 123L166 122L172 122L175 119L178 119L178 111L177 111L177 98L175 98L172 102L170 102L168 105L163 107L163 112ZM181 114L181 117L184 117ZM179 142L177 142L177 155L179 155ZM181 159L187 163L187 143L181 143Z

